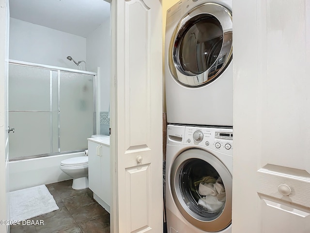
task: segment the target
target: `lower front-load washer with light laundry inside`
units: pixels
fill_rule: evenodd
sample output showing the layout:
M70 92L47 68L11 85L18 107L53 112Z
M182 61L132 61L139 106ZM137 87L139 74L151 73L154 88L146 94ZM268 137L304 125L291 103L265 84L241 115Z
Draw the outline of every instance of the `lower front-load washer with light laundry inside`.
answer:
M231 233L232 172L232 128L168 125L168 233Z

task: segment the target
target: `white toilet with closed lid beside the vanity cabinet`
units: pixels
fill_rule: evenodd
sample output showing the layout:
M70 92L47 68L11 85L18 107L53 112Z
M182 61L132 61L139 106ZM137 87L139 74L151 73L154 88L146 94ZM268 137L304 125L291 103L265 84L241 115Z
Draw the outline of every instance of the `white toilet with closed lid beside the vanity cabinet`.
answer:
M73 189L88 188L88 156L62 160L60 169L73 178Z

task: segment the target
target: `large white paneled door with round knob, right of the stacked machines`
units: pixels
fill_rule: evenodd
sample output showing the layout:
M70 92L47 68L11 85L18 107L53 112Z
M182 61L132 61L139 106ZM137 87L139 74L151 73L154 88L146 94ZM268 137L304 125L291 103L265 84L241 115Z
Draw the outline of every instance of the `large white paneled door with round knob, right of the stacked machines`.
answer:
M233 2L233 233L310 232L309 19L308 0Z

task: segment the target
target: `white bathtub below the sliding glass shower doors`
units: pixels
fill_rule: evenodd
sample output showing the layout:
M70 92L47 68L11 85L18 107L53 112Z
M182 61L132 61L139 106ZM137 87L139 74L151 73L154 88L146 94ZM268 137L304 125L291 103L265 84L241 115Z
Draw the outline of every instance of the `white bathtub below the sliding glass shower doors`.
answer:
M8 162L9 191L72 179L62 172L60 162L78 156L85 154L77 152Z

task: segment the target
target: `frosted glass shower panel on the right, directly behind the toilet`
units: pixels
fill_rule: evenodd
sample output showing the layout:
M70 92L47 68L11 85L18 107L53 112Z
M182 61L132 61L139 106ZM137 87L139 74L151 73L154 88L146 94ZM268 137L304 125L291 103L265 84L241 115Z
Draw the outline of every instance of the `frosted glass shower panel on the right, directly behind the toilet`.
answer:
M60 72L60 152L87 149L94 133L93 75Z

